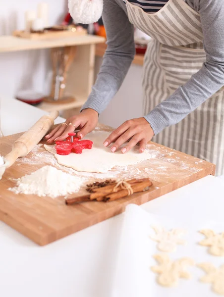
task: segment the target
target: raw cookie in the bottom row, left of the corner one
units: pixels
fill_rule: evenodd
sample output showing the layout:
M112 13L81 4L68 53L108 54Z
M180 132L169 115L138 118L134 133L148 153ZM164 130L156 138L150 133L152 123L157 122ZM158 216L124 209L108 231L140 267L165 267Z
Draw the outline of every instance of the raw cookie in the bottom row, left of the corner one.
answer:
M160 265L152 266L151 270L158 273L157 282L164 287L175 287L179 278L190 279L191 275L185 270L187 265L194 265L194 260L188 257L170 260L168 254L156 254L155 260Z

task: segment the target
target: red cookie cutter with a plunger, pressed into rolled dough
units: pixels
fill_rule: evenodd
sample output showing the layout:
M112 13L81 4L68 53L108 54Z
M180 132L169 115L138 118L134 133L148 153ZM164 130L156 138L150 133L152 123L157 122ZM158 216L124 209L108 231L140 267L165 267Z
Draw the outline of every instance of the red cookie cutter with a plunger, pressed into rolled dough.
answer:
M68 133L65 141L56 141L56 152L60 155L68 155L71 152L82 153L82 150L87 148L91 149L93 147L93 142L91 140L79 140L78 137L74 137L75 133Z

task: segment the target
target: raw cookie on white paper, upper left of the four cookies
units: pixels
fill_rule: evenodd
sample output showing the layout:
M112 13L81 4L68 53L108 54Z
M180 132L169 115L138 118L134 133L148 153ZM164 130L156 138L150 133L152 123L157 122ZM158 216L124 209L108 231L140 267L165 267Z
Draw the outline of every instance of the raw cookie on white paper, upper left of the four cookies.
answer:
M187 232L184 229L172 229L171 231L165 231L163 227L152 226L155 231L155 235L151 235L150 238L159 244L158 249L165 252L173 252L176 250L177 245L185 245L187 242L180 239L180 236L185 235Z

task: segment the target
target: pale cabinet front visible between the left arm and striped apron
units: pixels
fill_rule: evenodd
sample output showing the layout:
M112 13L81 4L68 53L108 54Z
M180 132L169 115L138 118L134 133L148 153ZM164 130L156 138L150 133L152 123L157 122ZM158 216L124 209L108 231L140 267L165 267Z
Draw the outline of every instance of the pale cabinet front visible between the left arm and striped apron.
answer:
M102 58L97 57L96 73L101 63ZM132 64L120 90L100 115L100 122L116 128L124 121L142 115L142 66Z

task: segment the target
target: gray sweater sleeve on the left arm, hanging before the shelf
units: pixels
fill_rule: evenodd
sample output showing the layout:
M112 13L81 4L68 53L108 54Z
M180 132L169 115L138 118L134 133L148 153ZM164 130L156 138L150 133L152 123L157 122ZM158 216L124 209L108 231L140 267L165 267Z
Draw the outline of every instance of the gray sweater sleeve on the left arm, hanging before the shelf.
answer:
M135 55L133 25L115 0L104 0L102 18L108 47L96 83L82 107L99 114L119 90Z

